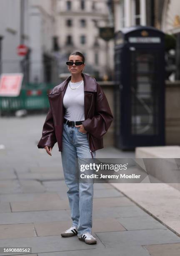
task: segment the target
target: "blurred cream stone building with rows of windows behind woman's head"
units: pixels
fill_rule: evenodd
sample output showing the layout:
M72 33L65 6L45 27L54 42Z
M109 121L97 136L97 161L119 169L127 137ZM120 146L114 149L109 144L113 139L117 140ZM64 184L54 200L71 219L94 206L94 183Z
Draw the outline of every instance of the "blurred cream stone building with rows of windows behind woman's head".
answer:
M97 79L113 69L113 40L106 43L99 27L108 26L106 0L58 0L57 34L60 45L60 72L67 72L65 59L72 51L85 55L85 72Z

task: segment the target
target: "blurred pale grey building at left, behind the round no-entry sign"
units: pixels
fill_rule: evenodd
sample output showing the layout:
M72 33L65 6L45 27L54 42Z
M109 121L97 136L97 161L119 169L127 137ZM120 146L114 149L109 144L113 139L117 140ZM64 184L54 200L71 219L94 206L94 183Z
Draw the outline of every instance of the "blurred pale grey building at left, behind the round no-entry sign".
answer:
M25 74L26 82L53 82L57 0L0 1L0 72ZM29 52L18 56L17 46Z

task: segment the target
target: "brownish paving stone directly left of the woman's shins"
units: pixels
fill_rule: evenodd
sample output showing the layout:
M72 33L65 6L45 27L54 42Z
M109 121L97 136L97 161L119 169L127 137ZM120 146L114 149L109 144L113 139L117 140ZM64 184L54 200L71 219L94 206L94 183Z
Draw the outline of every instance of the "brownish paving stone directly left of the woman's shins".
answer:
M11 202L12 212L42 211L42 210L65 210L69 209L67 200L33 200L23 202Z

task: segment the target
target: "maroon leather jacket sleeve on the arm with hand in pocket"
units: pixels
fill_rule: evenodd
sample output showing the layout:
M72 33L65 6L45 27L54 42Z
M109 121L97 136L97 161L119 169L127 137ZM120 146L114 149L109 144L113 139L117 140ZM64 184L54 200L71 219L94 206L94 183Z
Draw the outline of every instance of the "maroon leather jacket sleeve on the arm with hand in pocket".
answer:
M95 99L95 115L92 118L87 118L82 122L85 130L91 133L95 138L101 138L109 129L113 120L113 115L110 110L107 98L97 84L97 95Z

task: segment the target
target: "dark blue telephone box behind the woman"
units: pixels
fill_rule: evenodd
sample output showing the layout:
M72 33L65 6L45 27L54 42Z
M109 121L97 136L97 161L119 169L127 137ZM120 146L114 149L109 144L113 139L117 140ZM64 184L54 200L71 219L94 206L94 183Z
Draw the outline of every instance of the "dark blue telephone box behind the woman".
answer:
M115 33L115 146L165 145L165 34L135 26Z

